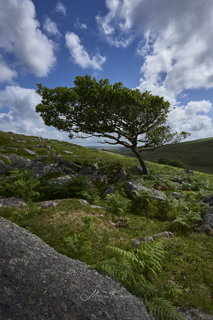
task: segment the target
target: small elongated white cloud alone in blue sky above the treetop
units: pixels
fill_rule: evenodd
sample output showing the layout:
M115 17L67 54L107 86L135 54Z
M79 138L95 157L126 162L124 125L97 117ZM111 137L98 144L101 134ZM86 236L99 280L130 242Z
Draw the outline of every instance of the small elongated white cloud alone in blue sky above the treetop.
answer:
M102 57L99 53L89 56L84 46L81 44L80 38L73 32L66 32L66 47L70 51L71 58L74 63L81 68L93 68L102 70L102 64L106 61L106 57Z

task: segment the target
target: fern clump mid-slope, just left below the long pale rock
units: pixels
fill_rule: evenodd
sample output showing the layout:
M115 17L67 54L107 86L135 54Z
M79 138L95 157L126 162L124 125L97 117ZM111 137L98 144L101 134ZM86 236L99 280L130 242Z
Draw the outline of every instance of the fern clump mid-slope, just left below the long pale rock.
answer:
M129 211L127 206L131 203L131 200L122 195L107 194L106 201L112 208L112 213L118 217L124 215L126 212Z

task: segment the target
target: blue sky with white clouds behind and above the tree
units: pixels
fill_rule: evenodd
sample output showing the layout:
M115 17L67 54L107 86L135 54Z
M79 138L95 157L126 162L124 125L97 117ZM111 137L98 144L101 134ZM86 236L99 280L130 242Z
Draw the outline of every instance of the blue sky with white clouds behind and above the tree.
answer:
M0 0L0 130L100 145L35 113L37 83L86 74L169 100L184 141L213 137L213 1Z

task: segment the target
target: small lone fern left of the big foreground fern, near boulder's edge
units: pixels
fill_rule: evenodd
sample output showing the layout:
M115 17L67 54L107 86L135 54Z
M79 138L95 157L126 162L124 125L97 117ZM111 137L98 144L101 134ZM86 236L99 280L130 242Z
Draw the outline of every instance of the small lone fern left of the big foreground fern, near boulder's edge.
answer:
M90 254L90 241L84 235L74 233L73 237L65 237L64 241L71 252L72 259L82 259L85 255Z

